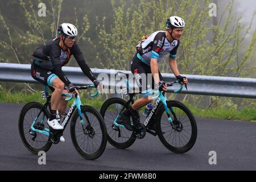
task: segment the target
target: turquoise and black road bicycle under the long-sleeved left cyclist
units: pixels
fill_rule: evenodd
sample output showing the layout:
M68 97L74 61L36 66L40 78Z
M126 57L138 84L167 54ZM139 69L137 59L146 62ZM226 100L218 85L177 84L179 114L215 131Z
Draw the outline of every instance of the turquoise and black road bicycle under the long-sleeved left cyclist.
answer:
M77 90L94 88L94 85L76 86ZM107 133L104 120L96 109L88 105L82 105L79 94L63 93L61 96L68 97L65 101L70 101L75 96L75 100L68 113L64 114L60 124L63 130L53 130L47 124L49 111L51 108L51 95L48 94L47 86L44 86L42 98L46 99L46 104L39 102L29 102L24 105L19 115L19 134L26 148L33 154L39 151L47 152L52 143L60 142L69 120L71 119L70 132L73 146L76 151L85 159L94 160L101 156L107 143ZM91 97L96 97L98 90Z

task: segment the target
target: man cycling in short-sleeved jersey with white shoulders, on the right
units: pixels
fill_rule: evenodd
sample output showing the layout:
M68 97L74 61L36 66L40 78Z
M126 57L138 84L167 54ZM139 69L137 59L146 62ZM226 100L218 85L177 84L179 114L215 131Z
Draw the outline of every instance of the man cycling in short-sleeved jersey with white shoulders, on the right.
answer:
M139 42L137 53L131 60L131 72L135 76L142 96L134 102L130 109L121 113L121 119L126 129L131 130L130 114L136 116L137 110L151 102L152 96L147 96L151 89L167 91L167 86L163 82L163 77L158 69L158 63L164 55L169 54L169 65L181 84L187 84L186 77L180 75L177 68L176 51L180 44L180 38L185 27L185 22L179 16L171 16L166 22L166 31L156 31ZM152 74L152 82L148 80L148 74ZM146 76L145 76L146 75ZM154 123L148 123L148 129L154 130Z

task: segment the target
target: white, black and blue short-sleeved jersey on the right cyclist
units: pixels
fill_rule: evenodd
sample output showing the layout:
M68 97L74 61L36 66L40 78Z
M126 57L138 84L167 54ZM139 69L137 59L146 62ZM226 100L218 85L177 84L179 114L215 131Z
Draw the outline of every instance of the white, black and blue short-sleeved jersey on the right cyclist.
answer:
M147 65L150 65L151 58L158 59L158 62L167 54L175 58L179 44L179 40L169 42L165 31L156 31L139 42L137 57Z

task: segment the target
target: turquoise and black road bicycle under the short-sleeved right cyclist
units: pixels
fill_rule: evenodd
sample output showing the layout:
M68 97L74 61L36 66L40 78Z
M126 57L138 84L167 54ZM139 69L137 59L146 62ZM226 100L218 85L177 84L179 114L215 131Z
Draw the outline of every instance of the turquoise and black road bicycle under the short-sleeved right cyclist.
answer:
M122 74L118 72L118 74ZM127 82L128 74L126 75L126 92L129 92L129 82ZM167 86L180 84L179 81L168 82ZM180 84L178 90L174 93L180 92L183 85ZM127 130L125 125L118 124L120 113L131 107L134 104L134 96L139 93L128 93L129 100L125 101L122 98L113 97L104 102L100 113L106 123L108 141L112 146L117 148L130 147L136 139L145 137L146 132L154 136L158 135L163 145L170 151L175 153L184 153L189 151L196 142L197 125L193 114L187 106L179 101L168 101L164 92L152 90L147 96L156 95L152 97L155 101L151 112L148 114L144 122L141 122L140 115L131 114L130 122L132 130ZM152 123L153 122L153 123ZM155 125L155 131L150 130L148 123Z

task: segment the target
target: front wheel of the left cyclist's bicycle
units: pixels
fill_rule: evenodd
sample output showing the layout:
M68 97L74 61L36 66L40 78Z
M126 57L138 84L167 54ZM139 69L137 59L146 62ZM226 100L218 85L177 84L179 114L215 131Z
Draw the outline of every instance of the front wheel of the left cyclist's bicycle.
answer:
M76 151L85 159L94 160L106 148L106 126L100 113L91 106L81 106L82 120L76 109L70 125L71 138Z

